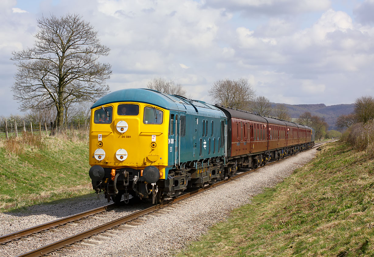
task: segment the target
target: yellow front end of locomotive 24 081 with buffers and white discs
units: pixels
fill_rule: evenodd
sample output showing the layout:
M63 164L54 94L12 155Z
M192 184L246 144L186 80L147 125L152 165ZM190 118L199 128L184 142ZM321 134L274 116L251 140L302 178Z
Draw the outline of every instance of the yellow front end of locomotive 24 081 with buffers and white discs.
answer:
M168 166L169 111L156 105L119 101L91 110L89 175L108 202L129 195L156 198Z

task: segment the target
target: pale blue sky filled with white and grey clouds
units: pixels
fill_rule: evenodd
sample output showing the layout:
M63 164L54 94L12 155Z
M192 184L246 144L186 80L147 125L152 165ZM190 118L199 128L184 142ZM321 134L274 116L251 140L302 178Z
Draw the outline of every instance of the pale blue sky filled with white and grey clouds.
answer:
M219 79L248 79L274 103L350 104L374 96L374 0L0 0L0 115L22 114L13 51L42 16L79 13L111 51L110 90L154 77L212 103Z

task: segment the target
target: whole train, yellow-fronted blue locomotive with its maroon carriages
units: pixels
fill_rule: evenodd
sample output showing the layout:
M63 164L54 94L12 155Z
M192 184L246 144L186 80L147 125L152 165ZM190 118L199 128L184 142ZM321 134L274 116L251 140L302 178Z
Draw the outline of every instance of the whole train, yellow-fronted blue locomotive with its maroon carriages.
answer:
M315 141L308 126L150 89L105 95L92 105L90 125L89 175L108 202L162 202Z

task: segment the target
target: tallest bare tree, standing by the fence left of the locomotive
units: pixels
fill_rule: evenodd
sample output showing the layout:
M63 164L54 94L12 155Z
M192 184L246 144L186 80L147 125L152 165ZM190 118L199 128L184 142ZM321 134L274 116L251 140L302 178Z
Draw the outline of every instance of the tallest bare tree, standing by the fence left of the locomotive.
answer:
M95 101L109 91L111 65L98 62L110 49L101 45L98 32L81 15L37 19L39 32L33 48L13 52L18 71L12 86L20 109L55 107L54 126L64 120L71 103Z

